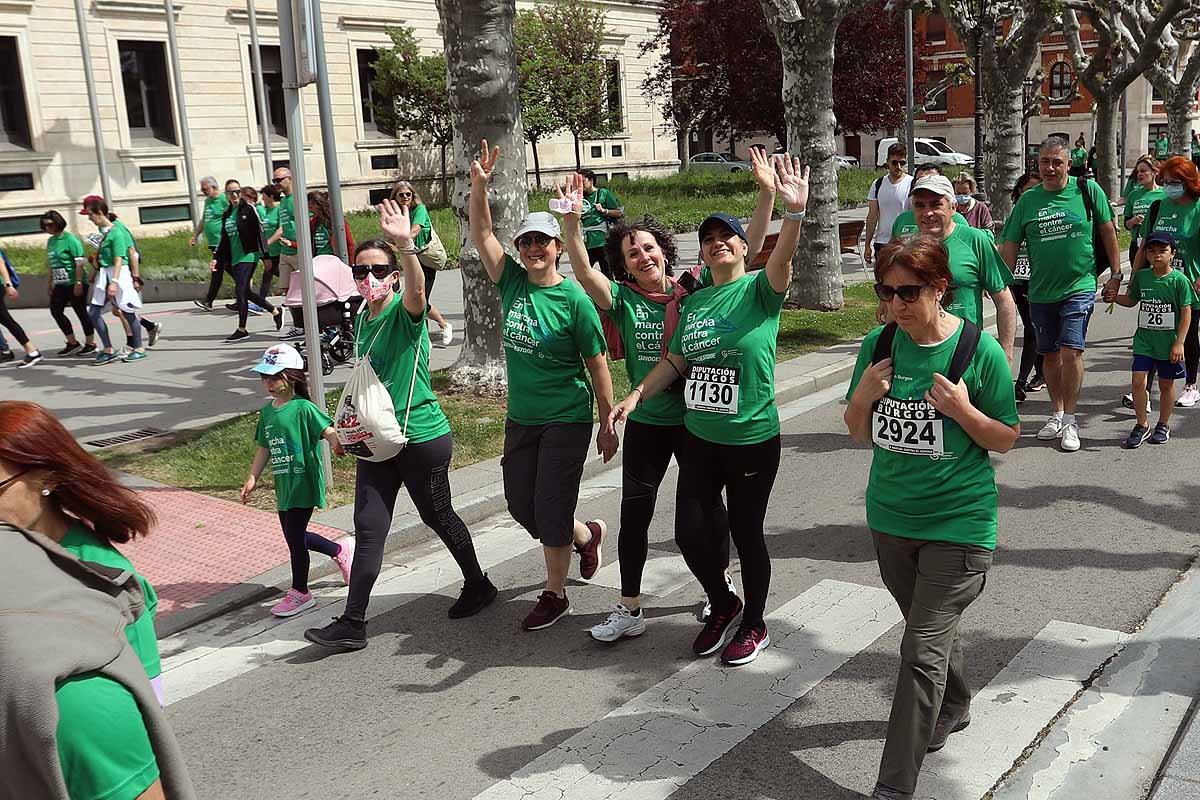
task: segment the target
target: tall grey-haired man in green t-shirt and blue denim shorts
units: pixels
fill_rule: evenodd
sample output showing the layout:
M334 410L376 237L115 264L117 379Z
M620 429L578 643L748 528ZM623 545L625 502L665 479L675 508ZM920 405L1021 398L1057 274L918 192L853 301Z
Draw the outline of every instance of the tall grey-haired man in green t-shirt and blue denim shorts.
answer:
M1121 252L1108 196L1096 181L1067 174L1067 146L1061 137L1042 143L1042 184L1016 201L1001 231L1000 252L1009 269L1016 264L1022 242L1030 255L1030 315L1038 353L1045 355L1052 411L1038 439L1061 438L1062 450L1074 452L1079 450L1075 403L1084 385L1084 341L1096 305L1093 237L1108 255L1110 284L1121 283Z

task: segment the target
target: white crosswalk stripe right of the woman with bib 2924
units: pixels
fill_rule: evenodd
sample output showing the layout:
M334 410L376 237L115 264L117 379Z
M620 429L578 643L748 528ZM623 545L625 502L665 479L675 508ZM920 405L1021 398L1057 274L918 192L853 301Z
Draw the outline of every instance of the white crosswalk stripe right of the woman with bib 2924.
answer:
M971 726L925 758L914 800L982 798L1126 638L1074 622L1046 624L971 700Z

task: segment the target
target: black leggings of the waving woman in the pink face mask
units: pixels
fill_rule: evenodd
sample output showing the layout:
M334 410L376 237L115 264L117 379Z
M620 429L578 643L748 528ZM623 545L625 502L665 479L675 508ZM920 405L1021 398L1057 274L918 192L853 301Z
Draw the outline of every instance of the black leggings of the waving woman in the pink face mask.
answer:
M451 434L408 444L394 458L384 462L359 461L354 479L354 535L356 548L350 569L350 593L346 599L346 616L365 620L371 589L383 566L383 547L391 530L391 515L400 487L421 515L421 522L433 529L462 570L463 578L484 577L475 557L470 531L454 510L450 497Z

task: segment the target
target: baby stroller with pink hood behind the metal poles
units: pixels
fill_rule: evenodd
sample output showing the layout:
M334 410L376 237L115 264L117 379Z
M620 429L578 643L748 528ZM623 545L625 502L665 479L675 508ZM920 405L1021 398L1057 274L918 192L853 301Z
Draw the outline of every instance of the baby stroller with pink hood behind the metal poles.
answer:
M313 285L317 290L317 326L320 330L322 372L329 374L338 363L354 355L354 315L362 305L362 296L354 285L350 267L336 255L312 259ZM304 294L300 276L288 284L283 305L292 311L292 324L304 327ZM296 343L301 353L304 343Z

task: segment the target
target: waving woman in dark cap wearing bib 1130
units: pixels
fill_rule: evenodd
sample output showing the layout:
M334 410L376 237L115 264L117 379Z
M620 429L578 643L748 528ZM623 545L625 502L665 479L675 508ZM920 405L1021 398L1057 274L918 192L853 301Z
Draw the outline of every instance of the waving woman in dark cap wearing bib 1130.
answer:
M708 217L700 227L700 255L713 285L688 297L666 355L607 417L612 429L642 402L685 379L688 434L679 458L676 542L713 608L692 650L707 656L724 646L721 661L734 666L754 661L770 644L763 620L770 588L763 523L780 459L775 339L809 198L809 169L798 158L775 156L774 172L786 213L767 266L746 272L750 242L737 217ZM744 603L725 582L721 542L714 540L712 519L722 489Z

